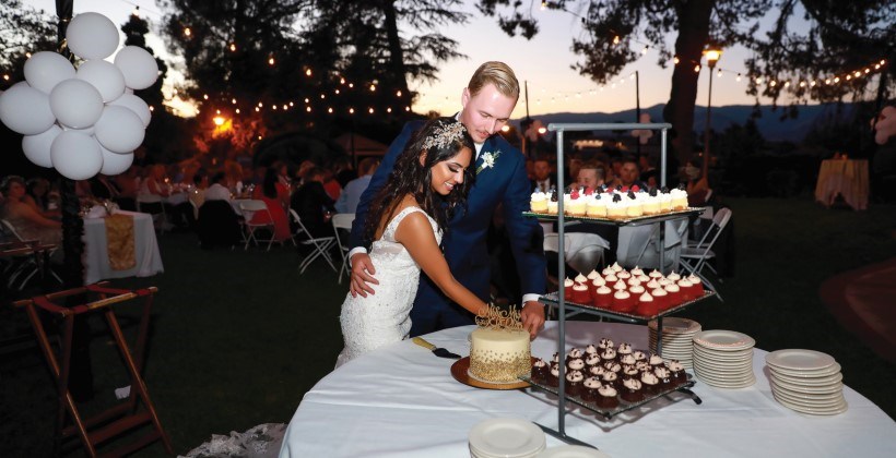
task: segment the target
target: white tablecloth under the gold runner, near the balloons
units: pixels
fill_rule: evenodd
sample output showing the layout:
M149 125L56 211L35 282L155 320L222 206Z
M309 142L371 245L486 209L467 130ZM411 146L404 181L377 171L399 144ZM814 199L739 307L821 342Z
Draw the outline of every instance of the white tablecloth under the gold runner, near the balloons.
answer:
M113 270L109 265L106 224L103 218L84 219L84 282L93 284L108 278L150 277L162 273L162 255L155 239L152 216L145 213L119 212L133 216L137 266Z

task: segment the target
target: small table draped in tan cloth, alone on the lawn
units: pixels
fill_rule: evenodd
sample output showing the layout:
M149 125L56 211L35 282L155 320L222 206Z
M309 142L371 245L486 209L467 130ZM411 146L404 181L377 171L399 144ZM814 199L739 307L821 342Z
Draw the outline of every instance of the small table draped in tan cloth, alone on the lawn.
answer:
M829 207L838 194L854 210L868 208L868 159L822 160L815 200Z

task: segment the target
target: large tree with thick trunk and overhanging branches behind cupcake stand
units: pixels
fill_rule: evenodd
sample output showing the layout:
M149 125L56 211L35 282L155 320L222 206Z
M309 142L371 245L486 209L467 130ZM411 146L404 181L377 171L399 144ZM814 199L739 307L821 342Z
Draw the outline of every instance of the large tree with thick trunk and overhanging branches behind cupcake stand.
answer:
M511 5L512 3L512 5ZM672 89L663 118L672 124L672 146L684 161L693 149L694 106L697 97L699 64L707 45L730 47L748 43L758 29L758 19L771 0L556 0L544 2L553 9L575 5L581 11L583 39L573 40L573 50L583 58L574 69L599 84L617 75L626 64L639 58L635 43L647 41L659 50L658 64L665 68L674 56L679 64L672 72ZM538 21L522 11L522 2L479 0L486 15L498 15L502 28L531 38L538 33ZM500 8L499 8L500 7ZM510 14L499 12L511 9ZM670 49L667 36L677 32Z

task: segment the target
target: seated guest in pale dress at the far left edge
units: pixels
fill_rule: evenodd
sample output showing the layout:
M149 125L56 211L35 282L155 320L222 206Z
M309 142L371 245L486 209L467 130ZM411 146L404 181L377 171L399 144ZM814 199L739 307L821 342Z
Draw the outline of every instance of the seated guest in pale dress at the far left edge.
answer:
M62 224L45 218L31 205L22 202L25 196L25 180L9 176L0 182L0 192L7 196L0 209L0 218L5 219L24 240L39 240L42 243L59 244L62 240Z

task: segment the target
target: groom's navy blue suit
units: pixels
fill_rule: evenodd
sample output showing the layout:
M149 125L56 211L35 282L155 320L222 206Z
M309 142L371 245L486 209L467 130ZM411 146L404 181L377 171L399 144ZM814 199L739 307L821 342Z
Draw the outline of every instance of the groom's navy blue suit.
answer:
M370 201L382 189L392 172L396 158L404 149L411 135L422 125L422 121L406 123L401 134L389 146L382 164L377 168L357 205L355 221L352 226L352 248L369 245L368 241L363 240L363 232ZM470 166L473 173L482 164L485 153L497 156L497 159L494 167L483 169L476 176L475 184L470 190L467 210L457 210L453 219L448 224L443 238L445 258L455 278L480 299L488 302L491 262L485 245L485 234L495 208L503 203L505 224L517 262L522 292L544 293L546 281L543 255L544 234L535 219L522 216L522 212L529 210L530 197L526 159L519 149L507 143L500 135L492 135L482 146L479 154L480 160ZM420 277L420 288L411 311L411 336L473 323L473 315L443 294L429 277L423 273ZM372 287L376 291L376 285Z

